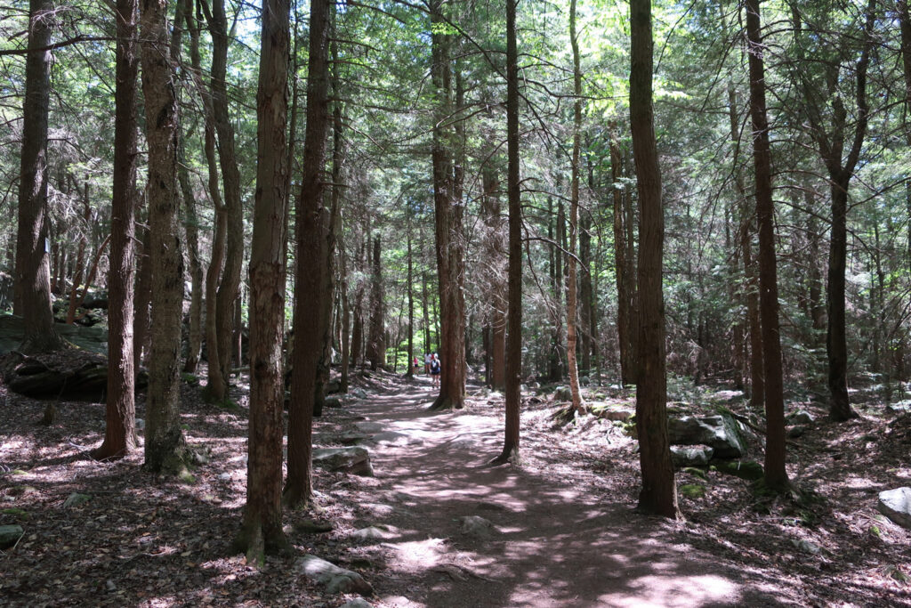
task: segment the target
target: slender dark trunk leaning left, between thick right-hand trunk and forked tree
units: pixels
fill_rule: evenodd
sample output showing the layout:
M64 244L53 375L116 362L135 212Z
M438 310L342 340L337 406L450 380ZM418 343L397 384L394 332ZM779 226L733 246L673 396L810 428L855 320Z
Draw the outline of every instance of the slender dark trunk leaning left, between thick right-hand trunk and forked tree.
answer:
M782 345L778 326L778 276L775 261L772 151L765 113L763 38L759 5L747 0L746 31L750 64L750 115L752 155L756 179L756 221L759 225L759 306L763 320L763 370L765 380L765 485L783 491L788 487L784 468L784 397Z

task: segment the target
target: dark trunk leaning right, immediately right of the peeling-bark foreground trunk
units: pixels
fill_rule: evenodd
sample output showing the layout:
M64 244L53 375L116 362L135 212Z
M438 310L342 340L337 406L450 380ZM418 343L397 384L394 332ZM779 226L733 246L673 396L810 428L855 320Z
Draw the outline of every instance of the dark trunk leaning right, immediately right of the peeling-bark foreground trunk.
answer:
M292 399L288 408L288 479L285 503L301 506L312 496L313 394L322 344L319 311L322 305L322 171L329 126L328 0L311 0L310 69L307 82L307 127L303 143L301 196L296 212L297 259L294 276L294 348ZM304 296L306 294L306 296Z

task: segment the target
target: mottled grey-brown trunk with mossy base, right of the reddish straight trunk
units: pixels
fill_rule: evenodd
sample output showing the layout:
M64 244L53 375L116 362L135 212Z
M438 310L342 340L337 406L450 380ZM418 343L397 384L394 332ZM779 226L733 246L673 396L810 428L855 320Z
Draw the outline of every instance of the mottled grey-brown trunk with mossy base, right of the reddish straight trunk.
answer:
M183 256L177 204L178 108L172 85L167 13L164 0L149 0L142 5L140 21L152 272L145 452L149 469L178 472L185 456L178 409Z

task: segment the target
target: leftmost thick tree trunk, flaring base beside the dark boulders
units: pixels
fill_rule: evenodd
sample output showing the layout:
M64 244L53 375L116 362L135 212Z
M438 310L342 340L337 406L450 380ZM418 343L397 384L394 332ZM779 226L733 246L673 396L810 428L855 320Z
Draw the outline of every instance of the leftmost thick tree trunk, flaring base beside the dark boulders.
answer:
M16 314L23 317L19 349L26 354L62 348L51 308L47 209L47 114L50 106L51 41L55 7L29 0L26 100L22 121L19 208L15 247Z

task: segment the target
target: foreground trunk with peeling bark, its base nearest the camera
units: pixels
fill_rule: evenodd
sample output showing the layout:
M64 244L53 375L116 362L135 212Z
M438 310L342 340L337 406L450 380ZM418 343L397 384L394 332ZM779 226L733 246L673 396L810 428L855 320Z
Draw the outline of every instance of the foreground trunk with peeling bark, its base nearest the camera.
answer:
M285 264L288 231L288 65L290 5L262 7L257 91L256 200L250 254L250 441L247 506L237 539L248 559L288 547L281 530L281 422Z

